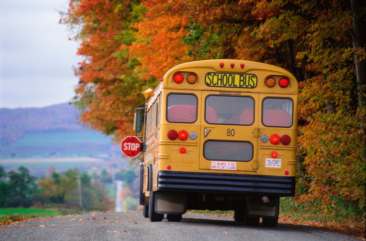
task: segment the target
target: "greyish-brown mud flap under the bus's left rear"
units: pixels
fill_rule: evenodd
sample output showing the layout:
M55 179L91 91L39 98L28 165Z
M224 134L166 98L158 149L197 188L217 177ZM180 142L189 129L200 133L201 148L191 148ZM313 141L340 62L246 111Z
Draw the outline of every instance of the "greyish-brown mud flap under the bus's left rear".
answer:
M157 191L155 195L156 212L184 214L187 211L187 193L175 191Z

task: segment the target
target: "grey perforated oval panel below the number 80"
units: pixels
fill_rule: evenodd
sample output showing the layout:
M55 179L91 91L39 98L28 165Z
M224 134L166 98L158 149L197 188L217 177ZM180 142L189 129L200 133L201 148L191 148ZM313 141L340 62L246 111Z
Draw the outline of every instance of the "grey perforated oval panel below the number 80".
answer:
M253 158L253 145L246 141L206 141L203 156L207 160L249 162Z

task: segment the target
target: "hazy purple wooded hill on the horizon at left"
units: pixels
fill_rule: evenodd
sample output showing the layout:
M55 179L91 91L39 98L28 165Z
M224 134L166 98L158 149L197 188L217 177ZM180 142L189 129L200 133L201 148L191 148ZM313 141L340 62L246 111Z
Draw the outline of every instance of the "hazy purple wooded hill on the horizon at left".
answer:
M69 103L44 108L0 108L0 148L29 132L81 131L79 113Z

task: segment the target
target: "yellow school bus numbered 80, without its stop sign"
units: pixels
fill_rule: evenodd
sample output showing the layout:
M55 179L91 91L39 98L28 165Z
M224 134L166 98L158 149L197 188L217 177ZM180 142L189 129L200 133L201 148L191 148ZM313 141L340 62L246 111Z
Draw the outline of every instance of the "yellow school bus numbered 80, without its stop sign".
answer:
M187 210L234 210L244 225L276 226L295 195L298 82L258 62L205 60L170 69L146 108L140 205L152 222Z

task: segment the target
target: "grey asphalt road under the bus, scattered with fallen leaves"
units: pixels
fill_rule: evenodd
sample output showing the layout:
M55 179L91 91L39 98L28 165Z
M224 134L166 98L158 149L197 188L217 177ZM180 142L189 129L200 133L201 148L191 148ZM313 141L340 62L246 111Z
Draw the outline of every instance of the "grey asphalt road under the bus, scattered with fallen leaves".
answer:
M150 222L140 211L34 218L0 228L0 240L356 240L315 227L279 223L243 226L220 215L185 214L180 222Z

